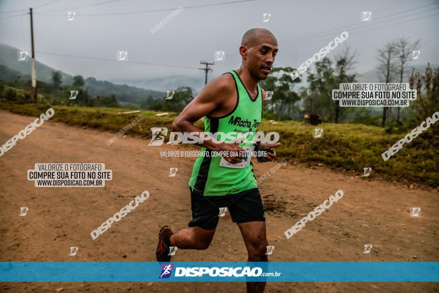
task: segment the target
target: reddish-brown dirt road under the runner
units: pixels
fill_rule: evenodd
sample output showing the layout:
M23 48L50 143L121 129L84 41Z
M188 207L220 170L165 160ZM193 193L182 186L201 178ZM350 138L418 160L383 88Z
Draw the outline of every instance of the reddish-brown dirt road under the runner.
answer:
M0 111L0 143L33 117ZM148 141L46 121L0 157L1 261L155 261L161 226L187 227L191 219L188 180L195 158L161 158L178 146L148 147ZM279 158L282 159L282 158ZM105 188L36 188L27 180L35 163L105 163L113 180ZM253 162L256 178L275 162ZM178 168L168 177L169 168ZM311 169L289 162L260 185L270 261L438 261L438 194L406 185ZM338 189L344 197L286 239L284 231ZM92 240L90 232L144 190L150 198ZM20 217L20 207L28 207ZM421 217L410 217L421 207ZM435 212L436 211L436 212ZM364 244L372 244L363 254ZM69 248L78 254L69 257ZM206 251L179 250L175 261L245 261L238 227L220 218ZM334 272L336 273L336 272ZM310 272L312 274L312 272ZM245 292L229 283L10 283L4 292ZM432 283L269 283L266 292L438 292Z

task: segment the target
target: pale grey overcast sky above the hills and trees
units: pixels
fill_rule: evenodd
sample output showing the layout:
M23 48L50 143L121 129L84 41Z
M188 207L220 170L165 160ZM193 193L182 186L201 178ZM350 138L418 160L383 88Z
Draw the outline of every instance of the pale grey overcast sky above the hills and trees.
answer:
M216 3L224 4L191 8ZM349 38L328 57L348 44L358 50L359 73L376 66L377 48L403 36L421 40L420 57L411 65L439 64L439 1L434 0L0 0L1 12L31 6L40 62L71 75L161 91L180 85L200 90L205 82L200 61L212 62L215 51L225 51L225 60L215 62L208 80L238 68L240 40L253 27L276 36L275 66L298 67L344 30ZM182 11L151 33L179 6ZM361 11L372 11L371 21L362 22ZM26 12L0 13L0 42L30 52L29 15L15 16ZM67 12L76 13L72 21ZM269 21L262 22L262 13L271 13ZM128 62L116 61L118 50L128 51Z

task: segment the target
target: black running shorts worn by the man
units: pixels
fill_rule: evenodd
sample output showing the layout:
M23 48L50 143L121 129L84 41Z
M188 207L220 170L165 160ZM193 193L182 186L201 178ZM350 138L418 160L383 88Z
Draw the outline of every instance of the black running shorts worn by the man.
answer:
M265 222L264 208L258 188L245 190L223 196L203 196L192 190L191 207L192 221L189 227L200 227L205 230L217 228L220 208L227 207L233 223Z

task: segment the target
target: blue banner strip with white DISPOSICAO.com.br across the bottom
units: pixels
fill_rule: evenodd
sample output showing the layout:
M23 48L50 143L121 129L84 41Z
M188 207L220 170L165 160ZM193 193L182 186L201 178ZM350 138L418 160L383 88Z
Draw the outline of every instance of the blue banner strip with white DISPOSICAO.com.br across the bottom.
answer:
M0 262L0 282L438 282L439 262Z

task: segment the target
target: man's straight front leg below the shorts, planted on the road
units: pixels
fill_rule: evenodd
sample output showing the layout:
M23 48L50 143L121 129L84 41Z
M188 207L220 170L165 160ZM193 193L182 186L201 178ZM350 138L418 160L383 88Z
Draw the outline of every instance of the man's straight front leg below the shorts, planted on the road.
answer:
M248 253L248 262L268 262L265 222L238 224ZM247 293L262 293L266 282L247 282Z

